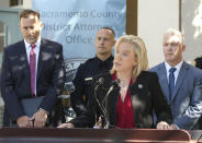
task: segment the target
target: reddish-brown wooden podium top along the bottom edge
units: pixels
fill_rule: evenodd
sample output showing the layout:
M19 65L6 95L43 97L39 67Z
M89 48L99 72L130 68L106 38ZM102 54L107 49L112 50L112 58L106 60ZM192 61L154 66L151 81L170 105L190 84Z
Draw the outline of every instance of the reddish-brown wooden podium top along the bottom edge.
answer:
M197 143L184 130L2 128L0 143Z

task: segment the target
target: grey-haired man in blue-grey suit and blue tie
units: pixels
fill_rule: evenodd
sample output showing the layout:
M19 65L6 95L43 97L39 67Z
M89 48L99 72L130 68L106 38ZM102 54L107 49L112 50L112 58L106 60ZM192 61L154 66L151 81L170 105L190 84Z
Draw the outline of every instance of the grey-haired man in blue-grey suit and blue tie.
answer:
M171 107L170 128L198 129L198 120L202 115L202 71L183 60L186 46L179 31L167 31L162 50L165 62L152 68L150 71L157 72L162 92Z

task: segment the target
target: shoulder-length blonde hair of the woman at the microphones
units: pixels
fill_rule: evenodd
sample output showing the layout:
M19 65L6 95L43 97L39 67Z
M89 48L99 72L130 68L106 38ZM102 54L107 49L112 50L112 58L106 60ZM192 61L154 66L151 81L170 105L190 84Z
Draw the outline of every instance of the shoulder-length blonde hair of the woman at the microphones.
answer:
M120 44L122 43L131 44L133 47L134 56L136 56L137 65L134 67L132 70L132 79L135 80L141 74L142 71L148 70L148 58L145 43L138 36L124 35L117 39L115 44L115 51L120 46ZM115 69L114 67L112 67L111 73L113 74L114 72Z

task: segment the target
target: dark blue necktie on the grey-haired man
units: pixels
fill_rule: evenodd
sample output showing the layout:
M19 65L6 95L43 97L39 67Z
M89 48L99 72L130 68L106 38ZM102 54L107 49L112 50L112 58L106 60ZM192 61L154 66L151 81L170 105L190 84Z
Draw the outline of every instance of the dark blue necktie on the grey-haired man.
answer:
M170 96L170 102L171 98L173 97L173 90L175 90L175 75L173 72L176 71L176 68L170 68L169 70L169 96Z

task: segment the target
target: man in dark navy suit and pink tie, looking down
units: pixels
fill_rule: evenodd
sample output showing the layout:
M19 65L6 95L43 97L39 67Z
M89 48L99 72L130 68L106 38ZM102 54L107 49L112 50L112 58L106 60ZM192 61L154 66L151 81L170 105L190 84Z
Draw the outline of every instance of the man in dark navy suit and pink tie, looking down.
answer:
M41 37L40 13L24 10L20 29L24 40L4 48L1 95L4 100L4 126L42 128L53 111L65 80L63 46ZM36 112L29 117L21 100L44 96Z

